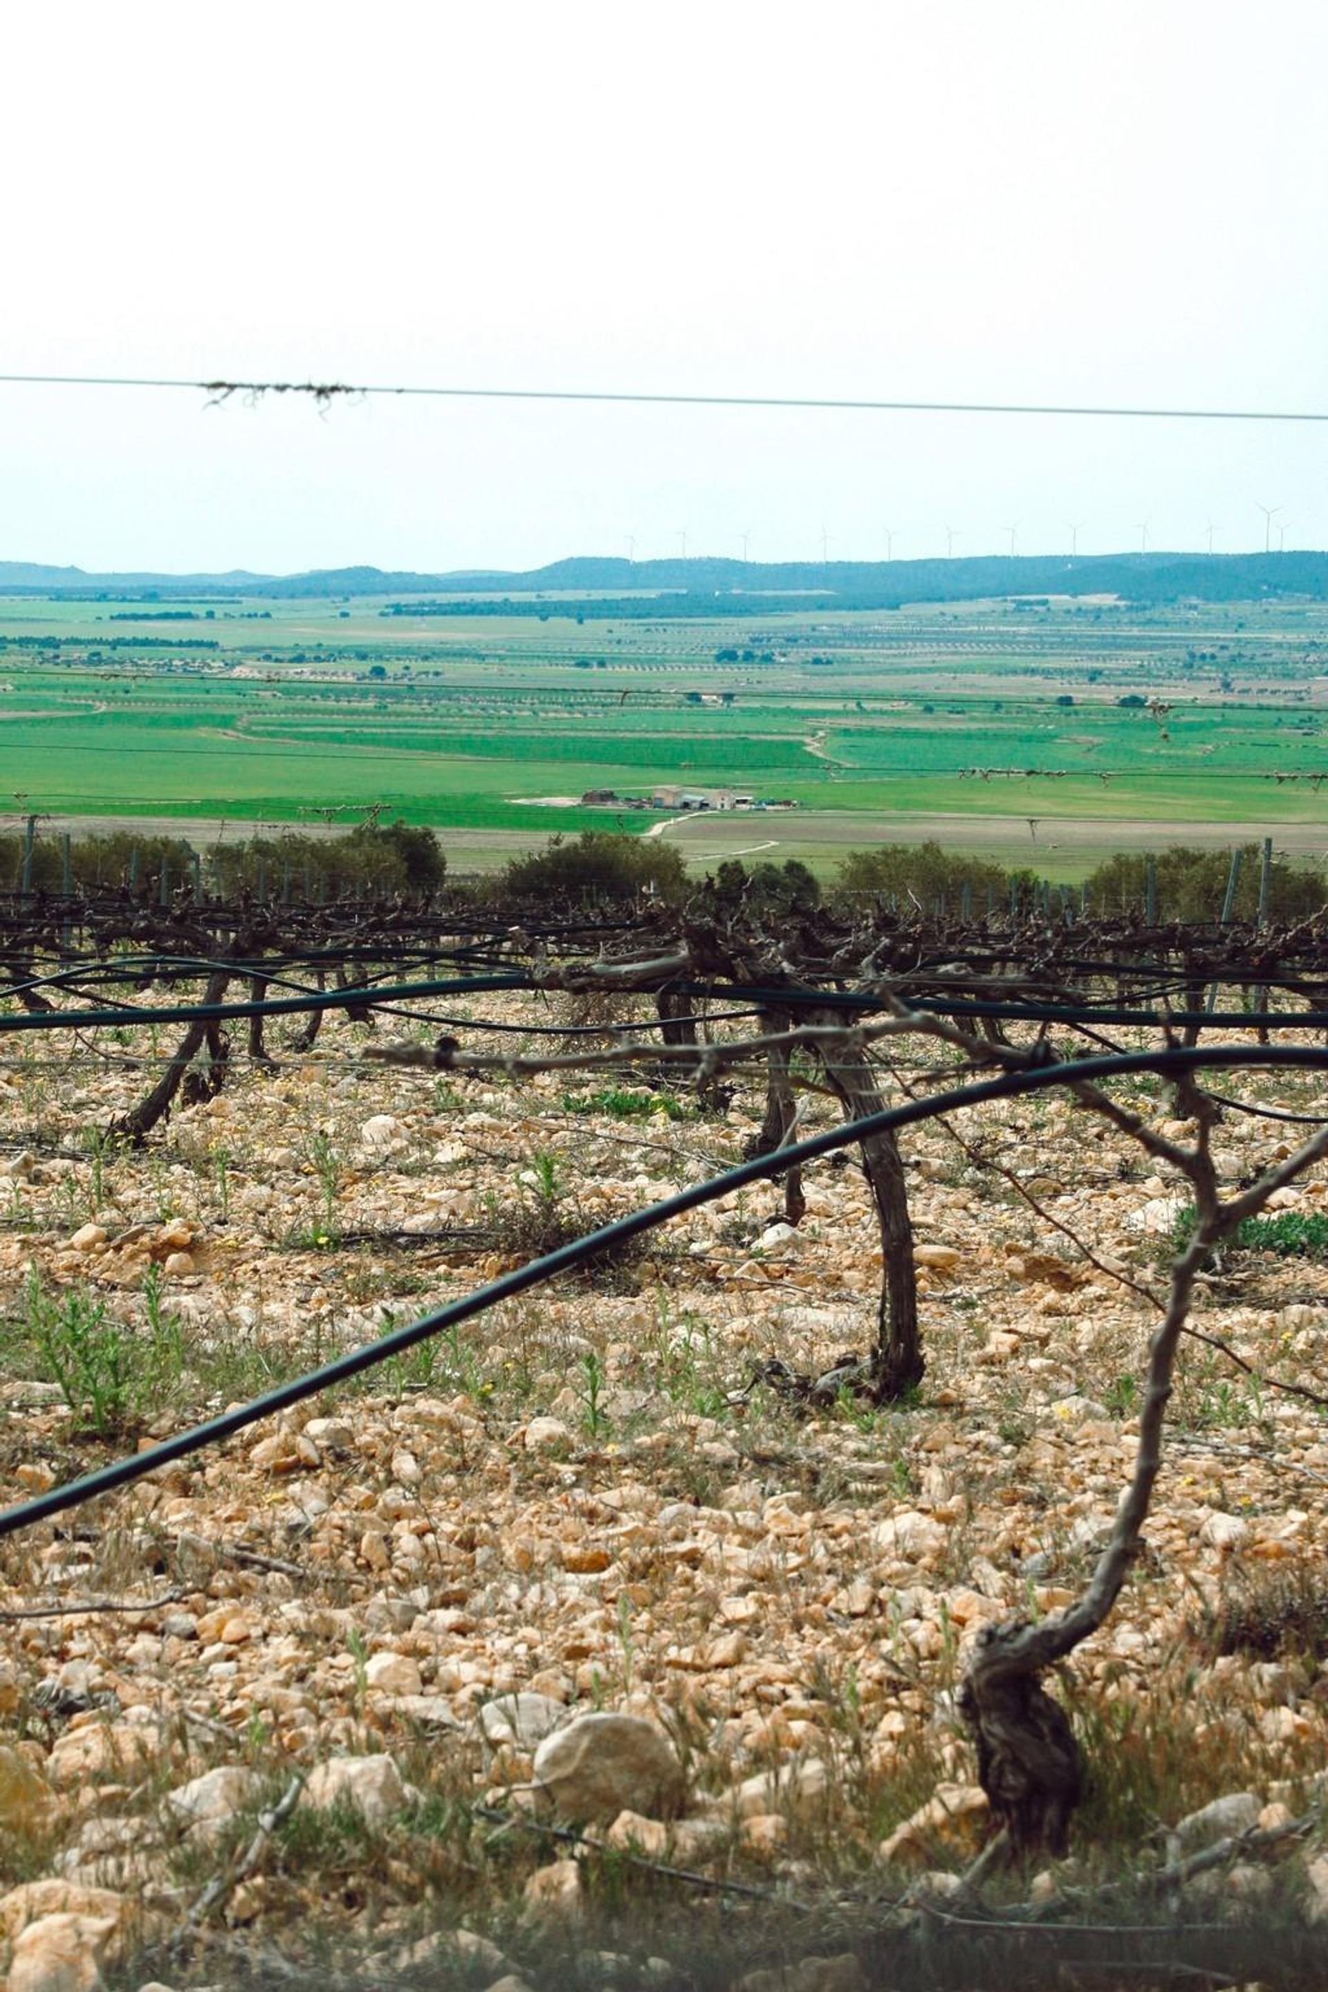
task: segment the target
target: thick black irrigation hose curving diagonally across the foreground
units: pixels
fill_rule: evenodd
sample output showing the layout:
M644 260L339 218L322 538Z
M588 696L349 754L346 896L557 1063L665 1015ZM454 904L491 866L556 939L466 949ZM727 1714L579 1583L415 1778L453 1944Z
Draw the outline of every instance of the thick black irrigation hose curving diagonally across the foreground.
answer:
M573 1239L569 1245L559 1245L557 1251L544 1253L540 1259L530 1259L526 1265L516 1267L512 1273L504 1273L500 1279L494 1279L484 1287L476 1287L474 1293L464 1295L460 1301L450 1301L432 1315L408 1321L404 1327L394 1329L376 1343L364 1343L360 1349L350 1349L346 1355L334 1357L331 1363L323 1363L317 1370L309 1370L305 1376L295 1376L291 1382L277 1384L275 1390L265 1390L263 1396L255 1396L249 1404L223 1410L217 1418L207 1418L203 1424L177 1432L173 1438L165 1438L159 1444L149 1446L145 1452L113 1460L110 1466L100 1466L92 1474L82 1474L66 1486L50 1488L50 1492L20 1502L16 1508L6 1508L0 1512L0 1538L14 1536L22 1528L32 1528L36 1522L46 1522L50 1516L64 1514L68 1508L80 1508L84 1502L96 1500L100 1494L110 1494L113 1488L129 1486L133 1480L141 1480L159 1466L169 1466L171 1460L183 1460L191 1452L201 1452L203 1446L213 1446L223 1438L233 1438L235 1432L243 1432L245 1426L257 1424L259 1418L269 1418L279 1410L289 1410L291 1404L303 1402L307 1396L317 1396L321 1390L331 1390L340 1382L348 1382L350 1376L358 1376L362 1370L374 1369L378 1363L388 1363L392 1357L404 1355L408 1349L428 1341L432 1335L458 1327L462 1321L470 1321L474 1315L486 1313L500 1301L512 1301L518 1293L526 1293L530 1287L544 1285L546 1279L555 1279L559 1273L571 1273L575 1267L585 1265L587 1259L595 1259L599 1253L611 1251L615 1245L623 1245L641 1231L653 1231L655 1225L667 1223L671 1217L681 1217L685 1211L695 1211L705 1203L715 1203L717 1197L743 1189L747 1183L782 1175L784 1169L804 1161L814 1161L818 1155L830 1155L834 1149L850 1147L854 1141L864 1141L874 1133L884 1133L890 1127L910 1127L918 1121L932 1120L938 1114L954 1114L960 1108L986 1106L992 1100L1013 1100L1019 1094L1043 1092L1049 1086L1075 1086L1093 1080L1127 1078L1135 1072L1195 1072L1209 1066L1300 1066L1328 1070L1328 1046L1175 1046L1165 1052L1117 1052L1109 1058L1065 1060L1063 1064L1053 1062L1045 1066L1031 1066L1023 1072L1007 1072L997 1080L978 1080L970 1086L954 1086L948 1092L930 1094L926 1100L910 1100L904 1106L886 1108L882 1114L868 1114L864 1120L842 1121L838 1127L830 1127L824 1133L808 1135L806 1141L794 1141L769 1155L755 1155L751 1161L741 1161L733 1169L725 1169L721 1175L707 1177L703 1183L693 1183L689 1189L679 1189L661 1203L647 1203L643 1209L631 1211L627 1217L617 1217L611 1225L601 1225L599 1231L589 1231L585 1237Z

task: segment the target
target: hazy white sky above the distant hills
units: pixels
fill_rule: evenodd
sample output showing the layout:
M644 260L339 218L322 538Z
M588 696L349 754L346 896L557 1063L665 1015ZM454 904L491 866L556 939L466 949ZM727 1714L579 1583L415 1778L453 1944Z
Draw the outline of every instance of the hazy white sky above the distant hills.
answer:
M0 74L0 371L1328 406L1322 0L74 0ZM0 560L1324 546L1326 456L0 386Z

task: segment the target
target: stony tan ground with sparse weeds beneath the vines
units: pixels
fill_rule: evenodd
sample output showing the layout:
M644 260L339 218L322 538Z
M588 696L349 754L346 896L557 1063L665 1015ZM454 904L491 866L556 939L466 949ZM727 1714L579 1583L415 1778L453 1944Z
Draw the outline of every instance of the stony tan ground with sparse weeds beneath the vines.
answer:
M715 1173L761 1121L755 1088L717 1118L601 1074L398 1072L331 1022L125 1151L104 1129L145 1036L6 1040L6 1502ZM1322 1110L1314 1076L1232 1092ZM1129 1098L1167 1125L1155 1082ZM1302 1133L1228 1114L1222 1181ZM1091 1570L1155 1319L1123 1277L1165 1283L1185 1199L1051 1096L906 1153L914 1404L808 1412L757 1374L870 1343L880 1249L836 1157L796 1231L776 1185L737 1193L4 1542L10 1992L920 1970L906 1938L972 1908L988 1831L966 1641ZM1276 1201L1328 1215L1328 1171ZM1328 1426L1266 1382L1316 1384L1328 1271L1230 1251L1195 1327L1252 1372L1187 1345L1147 1558L1059 1681L1093 1773L1071 1857L988 1904L1131 1876L1133 1920L1328 1912Z

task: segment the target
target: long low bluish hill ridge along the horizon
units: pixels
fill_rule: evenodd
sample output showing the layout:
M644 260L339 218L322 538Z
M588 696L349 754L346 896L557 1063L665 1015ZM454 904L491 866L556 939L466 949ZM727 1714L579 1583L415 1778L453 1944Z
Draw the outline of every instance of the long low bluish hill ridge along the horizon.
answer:
M1328 554L988 554L968 560L605 560L579 556L526 572L450 574L321 568L311 574L90 574L0 560L0 596L434 596L456 602L498 594L524 606L538 596L669 598L671 612L771 608L792 596L826 608L900 608L906 602L974 602L988 596L1123 596L1129 602L1250 602L1268 596L1328 600ZM609 604L601 602L599 612ZM589 604L587 604L589 610Z

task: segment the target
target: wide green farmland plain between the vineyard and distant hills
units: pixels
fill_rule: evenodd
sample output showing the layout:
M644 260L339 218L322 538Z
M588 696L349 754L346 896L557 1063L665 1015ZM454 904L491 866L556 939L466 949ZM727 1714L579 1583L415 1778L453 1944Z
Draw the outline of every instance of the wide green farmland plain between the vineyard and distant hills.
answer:
M1141 819L1177 839L1262 825L1310 849L1326 821L1328 612L1314 604L713 622L661 604L621 623L585 602L446 618L376 600L171 610L0 602L14 815L301 823L334 809L352 823L382 805L486 863L555 829L645 831L673 813L532 799L683 785L798 805L671 825L697 861L771 841L822 869L912 821L952 825L968 849L1005 841L996 821L1029 823L1033 843L1077 851L1097 843L1085 825L1111 847Z

